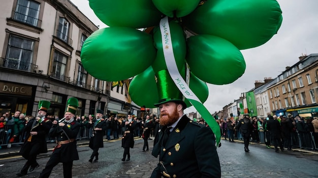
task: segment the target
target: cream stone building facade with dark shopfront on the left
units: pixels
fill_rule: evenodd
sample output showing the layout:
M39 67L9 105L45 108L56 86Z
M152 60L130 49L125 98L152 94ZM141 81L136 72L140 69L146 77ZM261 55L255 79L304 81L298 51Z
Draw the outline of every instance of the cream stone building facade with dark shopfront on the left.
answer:
M70 97L79 100L78 115L107 111L111 82L89 75L80 59L85 39L98 27L75 5L9 0L0 10L0 113L35 116L46 100L48 114L61 118Z

